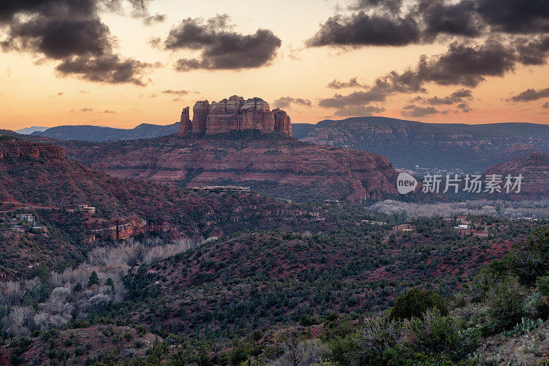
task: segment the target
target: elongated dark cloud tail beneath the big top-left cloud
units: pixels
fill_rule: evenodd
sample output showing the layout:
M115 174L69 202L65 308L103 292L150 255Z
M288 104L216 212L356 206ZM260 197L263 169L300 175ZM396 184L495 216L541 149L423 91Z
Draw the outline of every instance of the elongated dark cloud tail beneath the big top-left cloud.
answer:
M154 66L133 58L121 60L117 55L97 58L78 56L63 60L56 66L56 71L62 76L73 75L90 82L144 86L148 82L143 82L143 73Z

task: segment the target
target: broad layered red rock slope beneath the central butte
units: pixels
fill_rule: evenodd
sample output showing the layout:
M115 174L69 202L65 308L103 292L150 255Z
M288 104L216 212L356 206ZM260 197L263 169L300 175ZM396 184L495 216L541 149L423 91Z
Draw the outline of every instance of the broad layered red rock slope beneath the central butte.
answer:
M279 116L284 117L282 113ZM235 184L299 201L363 202L397 194L393 164L365 151L268 136L220 139L188 135L140 144L65 146L72 158L121 178L189 187Z

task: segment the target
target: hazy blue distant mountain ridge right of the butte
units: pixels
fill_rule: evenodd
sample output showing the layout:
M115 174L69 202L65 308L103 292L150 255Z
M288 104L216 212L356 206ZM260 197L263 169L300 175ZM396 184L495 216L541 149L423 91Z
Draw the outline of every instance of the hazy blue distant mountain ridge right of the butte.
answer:
M395 167L484 171L530 151L549 151L549 125L422 123L387 117L294 123L294 137L319 145L370 151Z

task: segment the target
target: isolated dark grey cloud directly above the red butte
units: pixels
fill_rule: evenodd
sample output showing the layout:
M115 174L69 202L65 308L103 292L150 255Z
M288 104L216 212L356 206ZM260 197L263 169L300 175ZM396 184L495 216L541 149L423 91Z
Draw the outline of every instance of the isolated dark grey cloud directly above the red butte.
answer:
M184 19L170 30L164 41L165 49L200 51L200 58L181 58L177 71L238 70L265 66L277 56L281 40L268 29L257 29L255 34L234 32L227 14L204 19Z

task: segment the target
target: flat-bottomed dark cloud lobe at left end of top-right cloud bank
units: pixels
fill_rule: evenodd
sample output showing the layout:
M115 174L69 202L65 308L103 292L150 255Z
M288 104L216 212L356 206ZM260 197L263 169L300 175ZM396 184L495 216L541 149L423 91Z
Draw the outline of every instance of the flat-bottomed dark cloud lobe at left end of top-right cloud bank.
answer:
M351 16L332 16L305 44L309 47L404 46L418 43L420 38L419 25L412 16L389 17L361 11Z

